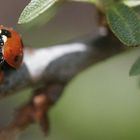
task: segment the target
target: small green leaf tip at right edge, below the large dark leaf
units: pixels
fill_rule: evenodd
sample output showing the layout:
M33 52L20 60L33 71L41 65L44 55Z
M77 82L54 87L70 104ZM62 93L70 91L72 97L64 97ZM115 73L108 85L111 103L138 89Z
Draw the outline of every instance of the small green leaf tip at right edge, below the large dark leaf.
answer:
M140 57L136 60L136 62L132 65L129 75L139 75L140 74Z

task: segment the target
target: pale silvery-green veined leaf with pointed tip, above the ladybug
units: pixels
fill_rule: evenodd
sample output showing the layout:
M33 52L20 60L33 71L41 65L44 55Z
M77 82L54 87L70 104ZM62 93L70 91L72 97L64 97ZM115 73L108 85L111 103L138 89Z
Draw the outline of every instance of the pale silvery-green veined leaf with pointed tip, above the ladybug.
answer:
M46 20L49 20L57 12L61 3L62 0L31 0L21 13L18 23L28 23L45 11L47 11Z

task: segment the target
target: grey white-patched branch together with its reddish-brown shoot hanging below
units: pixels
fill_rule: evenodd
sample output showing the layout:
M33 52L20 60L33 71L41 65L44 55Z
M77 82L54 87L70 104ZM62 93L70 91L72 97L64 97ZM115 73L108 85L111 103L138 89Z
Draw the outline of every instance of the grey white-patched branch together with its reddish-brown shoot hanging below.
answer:
M65 85L79 72L105 58L124 51L112 35L41 49L25 49L23 65L7 71L0 85L0 97L33 87L33 96L19 107L13 121L0 131L0 139L15 139L30 124L40 124L48 134L48 111L58 100Z

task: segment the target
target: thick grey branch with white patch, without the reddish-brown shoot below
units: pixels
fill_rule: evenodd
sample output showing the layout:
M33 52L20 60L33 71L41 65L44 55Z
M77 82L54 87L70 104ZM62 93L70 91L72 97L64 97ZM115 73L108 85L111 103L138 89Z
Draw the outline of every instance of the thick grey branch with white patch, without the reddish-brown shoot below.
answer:
M84 42L26 48L23 65L16 71L6 72L0 97L42 84L67 83L81 70L123 50L121 43L110 34Z

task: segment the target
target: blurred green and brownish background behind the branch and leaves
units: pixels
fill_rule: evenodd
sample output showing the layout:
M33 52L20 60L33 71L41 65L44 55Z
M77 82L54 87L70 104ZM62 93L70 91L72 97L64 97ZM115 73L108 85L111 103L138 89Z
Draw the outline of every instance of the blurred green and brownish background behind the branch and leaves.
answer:
M26 28L17 25L29 0L1 1L0 24L16 28L23 42L44 47L97 32L94 6L67 3L48 24ZM111 57L76 76L63 96L50 110L51 130L44 137L38 125L32 125L20 140L138 140L140 139L140 79L129 77L129 69L140 49ZM31 89L0 101L0 127L26 102Z

